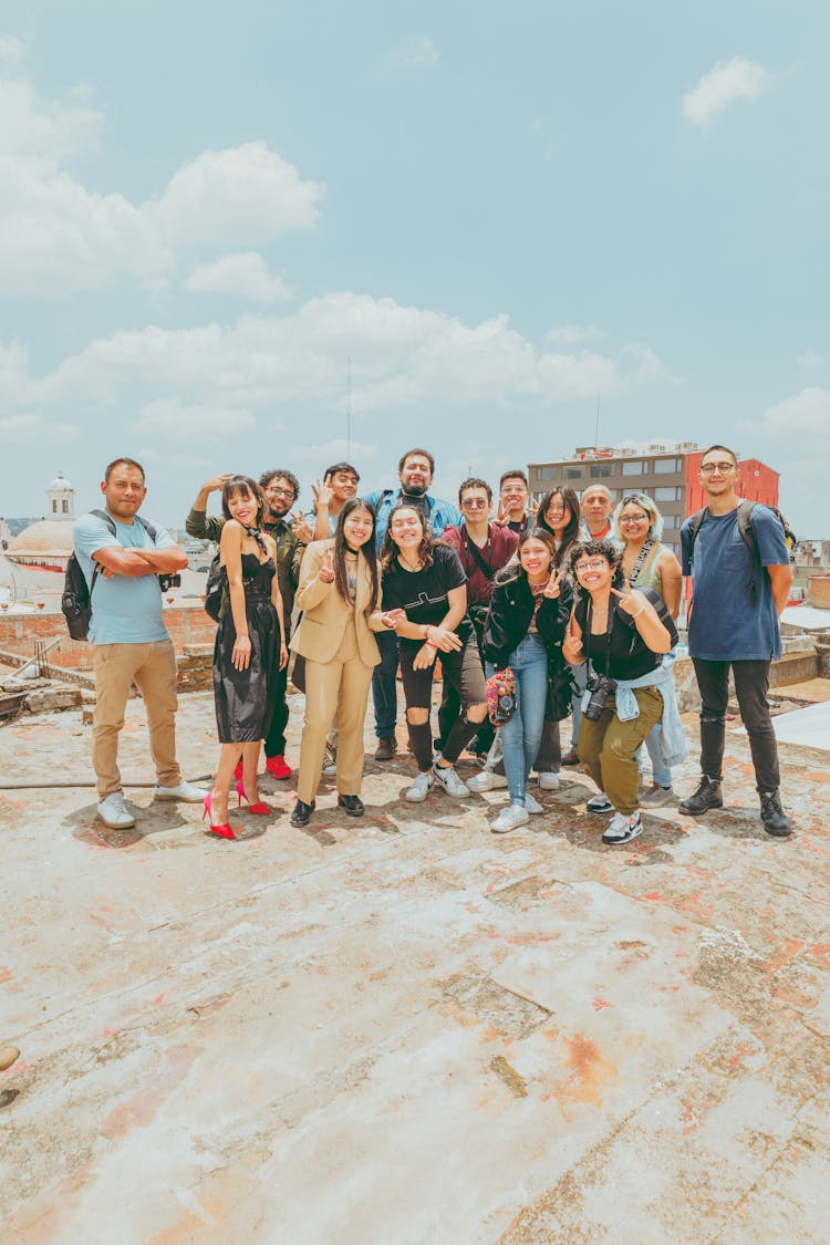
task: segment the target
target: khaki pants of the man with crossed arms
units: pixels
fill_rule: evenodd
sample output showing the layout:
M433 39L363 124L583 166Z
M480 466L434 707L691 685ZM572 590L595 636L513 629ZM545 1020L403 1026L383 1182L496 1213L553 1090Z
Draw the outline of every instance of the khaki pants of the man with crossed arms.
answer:
M175 763L175 656L169 640L154 644L93 644L95 718L92 766L98 799L121 791L118 733L131 684L142 693L149 727L149 751L163 787L177 787L182 772Z

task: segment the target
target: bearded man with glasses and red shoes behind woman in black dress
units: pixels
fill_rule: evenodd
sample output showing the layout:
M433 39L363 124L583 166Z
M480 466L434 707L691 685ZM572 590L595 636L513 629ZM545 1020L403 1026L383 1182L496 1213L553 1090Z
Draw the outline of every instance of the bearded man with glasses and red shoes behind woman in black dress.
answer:
M198 540L221 539L224 518L207 515L208 497L219 492L229 478L229 473L214 476L199 489L195 502L190 508L184 524L188 535ZM263 472L259 478L259 487L263 489L265 508L263 510L263 530L268 532L276 544L276 578L282 595L282 610L285 618L287 644L291 629L291 610L294 609L294 594L300 580L300 563L306 544L312 539L311 529L305 522L295 520L292 525L286 523L286 515L300 496L300 482L296 476L284 468L274 468ZM271 728L265 740L265 771L273 778L290 778L291 767L285 762L285 728L289 722L289 706L286 701L287 666L277 671L274 679L275 698Z

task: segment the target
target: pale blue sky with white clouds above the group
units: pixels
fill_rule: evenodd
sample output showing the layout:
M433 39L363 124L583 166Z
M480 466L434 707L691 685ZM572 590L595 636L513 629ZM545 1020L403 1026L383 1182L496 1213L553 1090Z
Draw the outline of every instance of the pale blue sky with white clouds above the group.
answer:
M0 513L725 442L830 535L830 6L0 0Z

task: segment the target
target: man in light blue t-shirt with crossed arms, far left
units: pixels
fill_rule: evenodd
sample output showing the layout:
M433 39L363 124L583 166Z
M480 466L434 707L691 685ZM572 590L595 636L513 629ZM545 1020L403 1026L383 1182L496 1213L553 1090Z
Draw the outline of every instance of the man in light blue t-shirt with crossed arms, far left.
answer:
M101 492L107 518L81 515L75 524L73 543L91 590L90 642L96 691L92 764L98 786L98 817L111 829L121 830L136 824L124 806L118 772L118 733L133 682L147 708L156 799L197 803L205 792L182 781L175 761L175 656L162 619L158 581L159 574L175 574L187 566L187 557L167 532L157 529L153 535L138 518L147 496L141 463L116 458L106 469Z

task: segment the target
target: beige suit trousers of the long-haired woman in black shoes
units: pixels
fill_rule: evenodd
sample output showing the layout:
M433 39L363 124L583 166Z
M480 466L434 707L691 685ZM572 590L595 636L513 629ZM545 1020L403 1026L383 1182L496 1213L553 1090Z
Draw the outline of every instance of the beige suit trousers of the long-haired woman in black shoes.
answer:
M306 659L305 721L300 743L297 796L310 804L317 794L326 735L337 715L337 794L360 796L363 782L363 722L372 682L357 650L352 619L331 661Z

